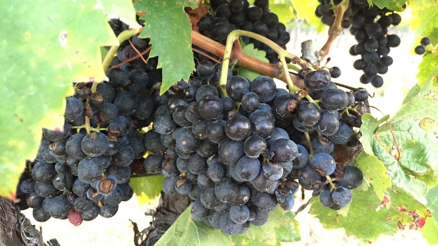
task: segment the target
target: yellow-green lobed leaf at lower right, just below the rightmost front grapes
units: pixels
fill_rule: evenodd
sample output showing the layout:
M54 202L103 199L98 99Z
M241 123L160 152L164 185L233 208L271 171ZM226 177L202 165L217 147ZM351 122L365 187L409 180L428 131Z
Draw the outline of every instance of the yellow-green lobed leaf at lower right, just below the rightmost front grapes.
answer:
M327 229L345 228L348 236L354 235L365 242L375 241L381 234L392 235L398 230L397 220L393 219L397 211L385 206L376 209L381 205L381 201L373 189L354 191L347 217L323 206L318 197L313 199L315 202L311 205L309 213L316 215Z

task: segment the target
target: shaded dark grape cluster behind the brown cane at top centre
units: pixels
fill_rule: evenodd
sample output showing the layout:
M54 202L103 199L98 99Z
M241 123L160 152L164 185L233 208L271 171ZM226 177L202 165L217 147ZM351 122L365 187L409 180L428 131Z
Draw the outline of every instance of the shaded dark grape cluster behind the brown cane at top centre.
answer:
M210 7L213 16L204 16L198 22L198 30L204 36L225 44L228 34L241 29L252 31L266 37L286 49L290 34L286 26L278 22L276 14L269 11L268 0L256 0L254 6L249 6L247 0L212 0ZM245 44L254 43L259 50L266 51L270 63L279 62L278 54L267 45L254 39L243 37Z

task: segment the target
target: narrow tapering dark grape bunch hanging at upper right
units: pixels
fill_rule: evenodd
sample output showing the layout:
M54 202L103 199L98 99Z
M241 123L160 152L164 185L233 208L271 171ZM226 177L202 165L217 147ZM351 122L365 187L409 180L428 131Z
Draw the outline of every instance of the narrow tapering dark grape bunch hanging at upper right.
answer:
M316 9L316 15L321 17L323 23L331 26L335 14L332 1L319 2L321 4ZM340 3L340 0L333 1L334 5ZM386 74L388 66L393 62L388 55L389 51L400 45L400 38L395 34L388 34L388 28L398 25L400 21L400 15L393 10L387 8L381 10L375 5L369 7L366 0L349 2L341 26L343 28L351 26L350 33L358 42L350 48L350 54L361 56L361 59L353 63L353 67L363 71L359 79L362 84L371 83L376 88L383 85L383 78L380 75Z

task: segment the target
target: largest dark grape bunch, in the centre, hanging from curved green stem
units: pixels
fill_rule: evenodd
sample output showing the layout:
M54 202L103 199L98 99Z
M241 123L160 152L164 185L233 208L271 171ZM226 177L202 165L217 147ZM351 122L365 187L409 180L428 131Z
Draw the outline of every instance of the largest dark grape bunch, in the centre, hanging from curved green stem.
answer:
M323 70L304 77L319 105L277 89L267 76L229 74L221 97L213 86L219 69L198 63L195 77L173 86L155 111L144 168L166 175L163 191L187 194L192 217L228 235L265 224L277 204L292 209L299 185L324 194L332 209L348 204L363 174L336 163L334 146L356 139L352 127L368 112L368 93L337 89Z

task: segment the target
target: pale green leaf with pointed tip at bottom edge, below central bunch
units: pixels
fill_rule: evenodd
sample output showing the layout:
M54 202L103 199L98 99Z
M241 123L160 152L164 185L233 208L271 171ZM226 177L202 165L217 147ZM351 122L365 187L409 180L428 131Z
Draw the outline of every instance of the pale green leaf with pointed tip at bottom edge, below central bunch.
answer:
M231 245L231 237L221 230L207 226L202 221L195 221L189 206L164 233L156 246L173 245Z

